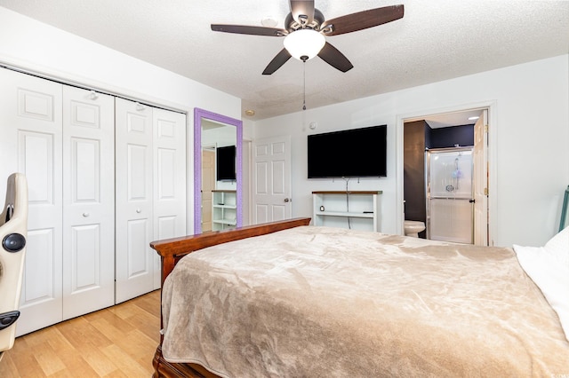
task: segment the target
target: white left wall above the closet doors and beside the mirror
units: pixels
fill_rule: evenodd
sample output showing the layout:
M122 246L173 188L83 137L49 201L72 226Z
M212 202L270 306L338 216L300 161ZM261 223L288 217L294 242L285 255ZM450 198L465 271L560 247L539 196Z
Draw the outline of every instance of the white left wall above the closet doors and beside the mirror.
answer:
M241 118L241 99L0 7L0 65L188 113L188 230L193 222L194 107Z

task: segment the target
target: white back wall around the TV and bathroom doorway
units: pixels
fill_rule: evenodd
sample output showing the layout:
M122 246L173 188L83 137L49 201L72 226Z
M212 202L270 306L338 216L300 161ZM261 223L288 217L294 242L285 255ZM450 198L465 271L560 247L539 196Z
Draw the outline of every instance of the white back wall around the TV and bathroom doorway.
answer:
M388 124L388 177L349 182L382 190L381 231L397 233L403 190L396 163L405 117L492 104L490 213L494 245L542 245L557 232L569 185L569 55L255 122L254 138L290 134L293 217L311 215L311 192L344 190L341 179L307 179L307 135ZM309 129L317 122L317 130ZM284 132L284 130L287 130ZM401 154L402 155L402 154Z

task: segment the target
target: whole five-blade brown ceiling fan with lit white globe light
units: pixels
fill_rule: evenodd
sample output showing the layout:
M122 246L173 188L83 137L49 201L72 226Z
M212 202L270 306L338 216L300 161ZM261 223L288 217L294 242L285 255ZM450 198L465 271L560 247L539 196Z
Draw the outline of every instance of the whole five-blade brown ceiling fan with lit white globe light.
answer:
M318 56L341 72L347 72L354 66L344 54L325 41L325 35L341 35L377 27L403 18L404 13L404 6L400 4L325 20L324 14L314 7L314 0L290 0L290 7L291 12L284 20L285 28L212 24L212 30L246 35L284 36L284 49L268 63L263 75L273 74L291 56L304 62Z

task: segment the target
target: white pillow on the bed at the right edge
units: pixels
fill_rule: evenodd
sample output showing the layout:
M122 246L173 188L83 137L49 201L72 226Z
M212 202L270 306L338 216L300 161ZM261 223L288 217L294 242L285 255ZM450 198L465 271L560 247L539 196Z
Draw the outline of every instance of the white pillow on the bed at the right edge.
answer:
M514 244L514 250L519 264L557 312L569 341L569 227L557 233L544 247Z

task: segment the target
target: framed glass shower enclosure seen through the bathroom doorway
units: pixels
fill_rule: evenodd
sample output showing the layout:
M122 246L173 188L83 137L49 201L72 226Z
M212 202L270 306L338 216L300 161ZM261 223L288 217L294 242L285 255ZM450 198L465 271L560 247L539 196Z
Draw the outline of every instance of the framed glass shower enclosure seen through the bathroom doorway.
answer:
M472 147L426 152L427 239L474 242Z

